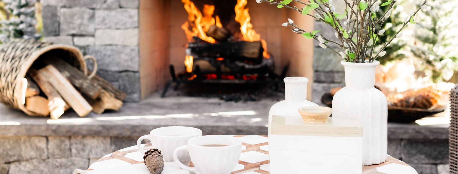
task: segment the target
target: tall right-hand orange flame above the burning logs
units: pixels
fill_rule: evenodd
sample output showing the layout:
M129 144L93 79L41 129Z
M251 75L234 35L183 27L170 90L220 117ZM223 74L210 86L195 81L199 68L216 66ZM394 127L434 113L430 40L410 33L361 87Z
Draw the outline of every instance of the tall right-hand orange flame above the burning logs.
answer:
M248 13L248 9L245 9L247 1L246 0L237 0L237 5L235 5L235 21L240 23L240 31L243 36L244 41L261 41L262 48L264 48L264 52L262 55L265 58L269 58L269 54L267 53L267 43L263 39L261 39L261 35L257 34L255 30L253 30L253 25L250 23L251 17Z

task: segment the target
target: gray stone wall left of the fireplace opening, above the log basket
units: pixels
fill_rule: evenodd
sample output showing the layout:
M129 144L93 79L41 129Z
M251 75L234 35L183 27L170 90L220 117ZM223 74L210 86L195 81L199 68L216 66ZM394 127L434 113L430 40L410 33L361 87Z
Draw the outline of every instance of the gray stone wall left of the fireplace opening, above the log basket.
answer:
M139 0L41 0L44 39L80 48L98 76L140 100ZM92 69L92 62L87 62Z

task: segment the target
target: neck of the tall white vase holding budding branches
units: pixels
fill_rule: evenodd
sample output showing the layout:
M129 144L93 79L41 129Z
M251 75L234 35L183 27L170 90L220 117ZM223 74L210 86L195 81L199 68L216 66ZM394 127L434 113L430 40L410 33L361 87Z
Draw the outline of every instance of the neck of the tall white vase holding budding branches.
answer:
M372 88L375 85L375 67L379 62L342 63L345 69L345 86L355 88Z

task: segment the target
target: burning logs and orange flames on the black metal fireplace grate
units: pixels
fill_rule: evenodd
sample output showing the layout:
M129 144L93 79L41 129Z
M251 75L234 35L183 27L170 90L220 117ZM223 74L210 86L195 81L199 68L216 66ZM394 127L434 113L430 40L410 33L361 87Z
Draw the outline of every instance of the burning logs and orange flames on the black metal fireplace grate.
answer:
M181 25L188 41L185 67L170 65L172 80L166 84L162 97L172 83L283 82L288 65L280 75L274 72L274 56L267 51L266 40L253 29L245 8L247 0L210 1L214 5L203 4L201 9L191 0L182 2L188 13Z

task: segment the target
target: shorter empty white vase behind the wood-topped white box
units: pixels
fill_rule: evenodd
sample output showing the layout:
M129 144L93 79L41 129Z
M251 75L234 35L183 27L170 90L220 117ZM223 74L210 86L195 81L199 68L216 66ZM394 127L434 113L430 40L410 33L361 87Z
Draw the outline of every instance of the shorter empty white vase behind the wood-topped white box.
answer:
M285 100L275 103L272 107L270 107L268 128L269 135L272 115L302 118L298 111L299 107L318 106L314 102L307 101L307 82L309 82L308 78L286 77L283 79L283 81L285 82ZM288 121L288 118L286 118L286 122Z

